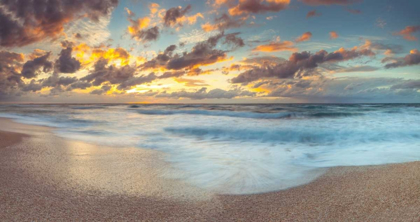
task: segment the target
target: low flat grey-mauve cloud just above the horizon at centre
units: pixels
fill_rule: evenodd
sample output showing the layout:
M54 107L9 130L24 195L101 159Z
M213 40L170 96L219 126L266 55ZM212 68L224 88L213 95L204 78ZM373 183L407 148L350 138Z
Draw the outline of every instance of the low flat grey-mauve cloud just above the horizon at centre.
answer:
M241 89L233 90L223 90L223 89L212 89L207 91L206 87L203 87L195 92L179 91L172 93L160 93L156 97L166 97L166 98L187 98L193 100L201 99L233 99L236 97L252 97L256 94L249 91L243 91Z

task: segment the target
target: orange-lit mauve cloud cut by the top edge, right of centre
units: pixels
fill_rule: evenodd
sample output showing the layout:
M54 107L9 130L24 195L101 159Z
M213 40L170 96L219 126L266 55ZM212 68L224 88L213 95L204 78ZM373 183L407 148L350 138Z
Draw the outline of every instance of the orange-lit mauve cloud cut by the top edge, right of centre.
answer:
M290 0L239 0L239 4L229 9L229 14L238 16L250 13L279 12L289 6Z

